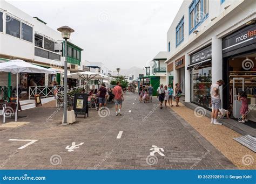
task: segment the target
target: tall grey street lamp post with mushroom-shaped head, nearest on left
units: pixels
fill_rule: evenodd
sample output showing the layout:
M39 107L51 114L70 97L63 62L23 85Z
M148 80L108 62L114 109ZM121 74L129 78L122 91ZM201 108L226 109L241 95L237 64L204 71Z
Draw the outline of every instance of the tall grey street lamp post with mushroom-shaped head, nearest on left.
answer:
M62 26L57 29L59 32L62 33L62 38L65 40L65 61L64 61L64 108L63 108L63 123L62 125L68 125L66 122L66 110L67 110L67 96L68 96L68 39L70 38L70 34L72 32L75 32L73 29L71 29L69 26Z

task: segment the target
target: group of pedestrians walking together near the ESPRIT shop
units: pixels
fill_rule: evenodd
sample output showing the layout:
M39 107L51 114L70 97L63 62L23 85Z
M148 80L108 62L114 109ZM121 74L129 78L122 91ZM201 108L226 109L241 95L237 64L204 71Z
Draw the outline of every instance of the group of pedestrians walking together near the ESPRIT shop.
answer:
M160 109L163 109L163 102L165 105L165 108L167 108L167 101L170 107L173 107L172 104L172 98L176 100L176 107L179 107L179 98L181 97L181 89L179 86L179 83L175 84L175 96L173 96L173 88L172 85L169 84L169 86L164 86L164 83L160 83L160 86L157 88L157 95L158 95L158 100L160 104Z

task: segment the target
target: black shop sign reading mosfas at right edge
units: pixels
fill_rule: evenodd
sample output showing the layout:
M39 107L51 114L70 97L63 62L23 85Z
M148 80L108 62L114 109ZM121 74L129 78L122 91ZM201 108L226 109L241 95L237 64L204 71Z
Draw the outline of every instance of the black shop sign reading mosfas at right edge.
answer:
M256 25L249 25L223 39L223 57L247 52L256 47Z

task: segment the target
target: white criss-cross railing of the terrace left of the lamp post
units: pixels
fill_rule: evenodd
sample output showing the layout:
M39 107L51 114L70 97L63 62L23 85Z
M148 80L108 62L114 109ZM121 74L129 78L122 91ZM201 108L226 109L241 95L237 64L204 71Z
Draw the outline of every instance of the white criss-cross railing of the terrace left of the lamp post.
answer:
M40 95L41 98L55 96L56 93L64 93L63 86L30 86L29 87L29 100L35 99L35 95Z

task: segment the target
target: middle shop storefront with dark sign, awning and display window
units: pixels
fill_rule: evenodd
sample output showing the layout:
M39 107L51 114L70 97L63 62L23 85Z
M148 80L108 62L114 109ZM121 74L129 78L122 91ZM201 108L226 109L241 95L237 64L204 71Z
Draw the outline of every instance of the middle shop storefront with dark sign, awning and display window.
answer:
M191 102L211 108L212 48L207 46L191 54L191 64L186 68L191 74Z

